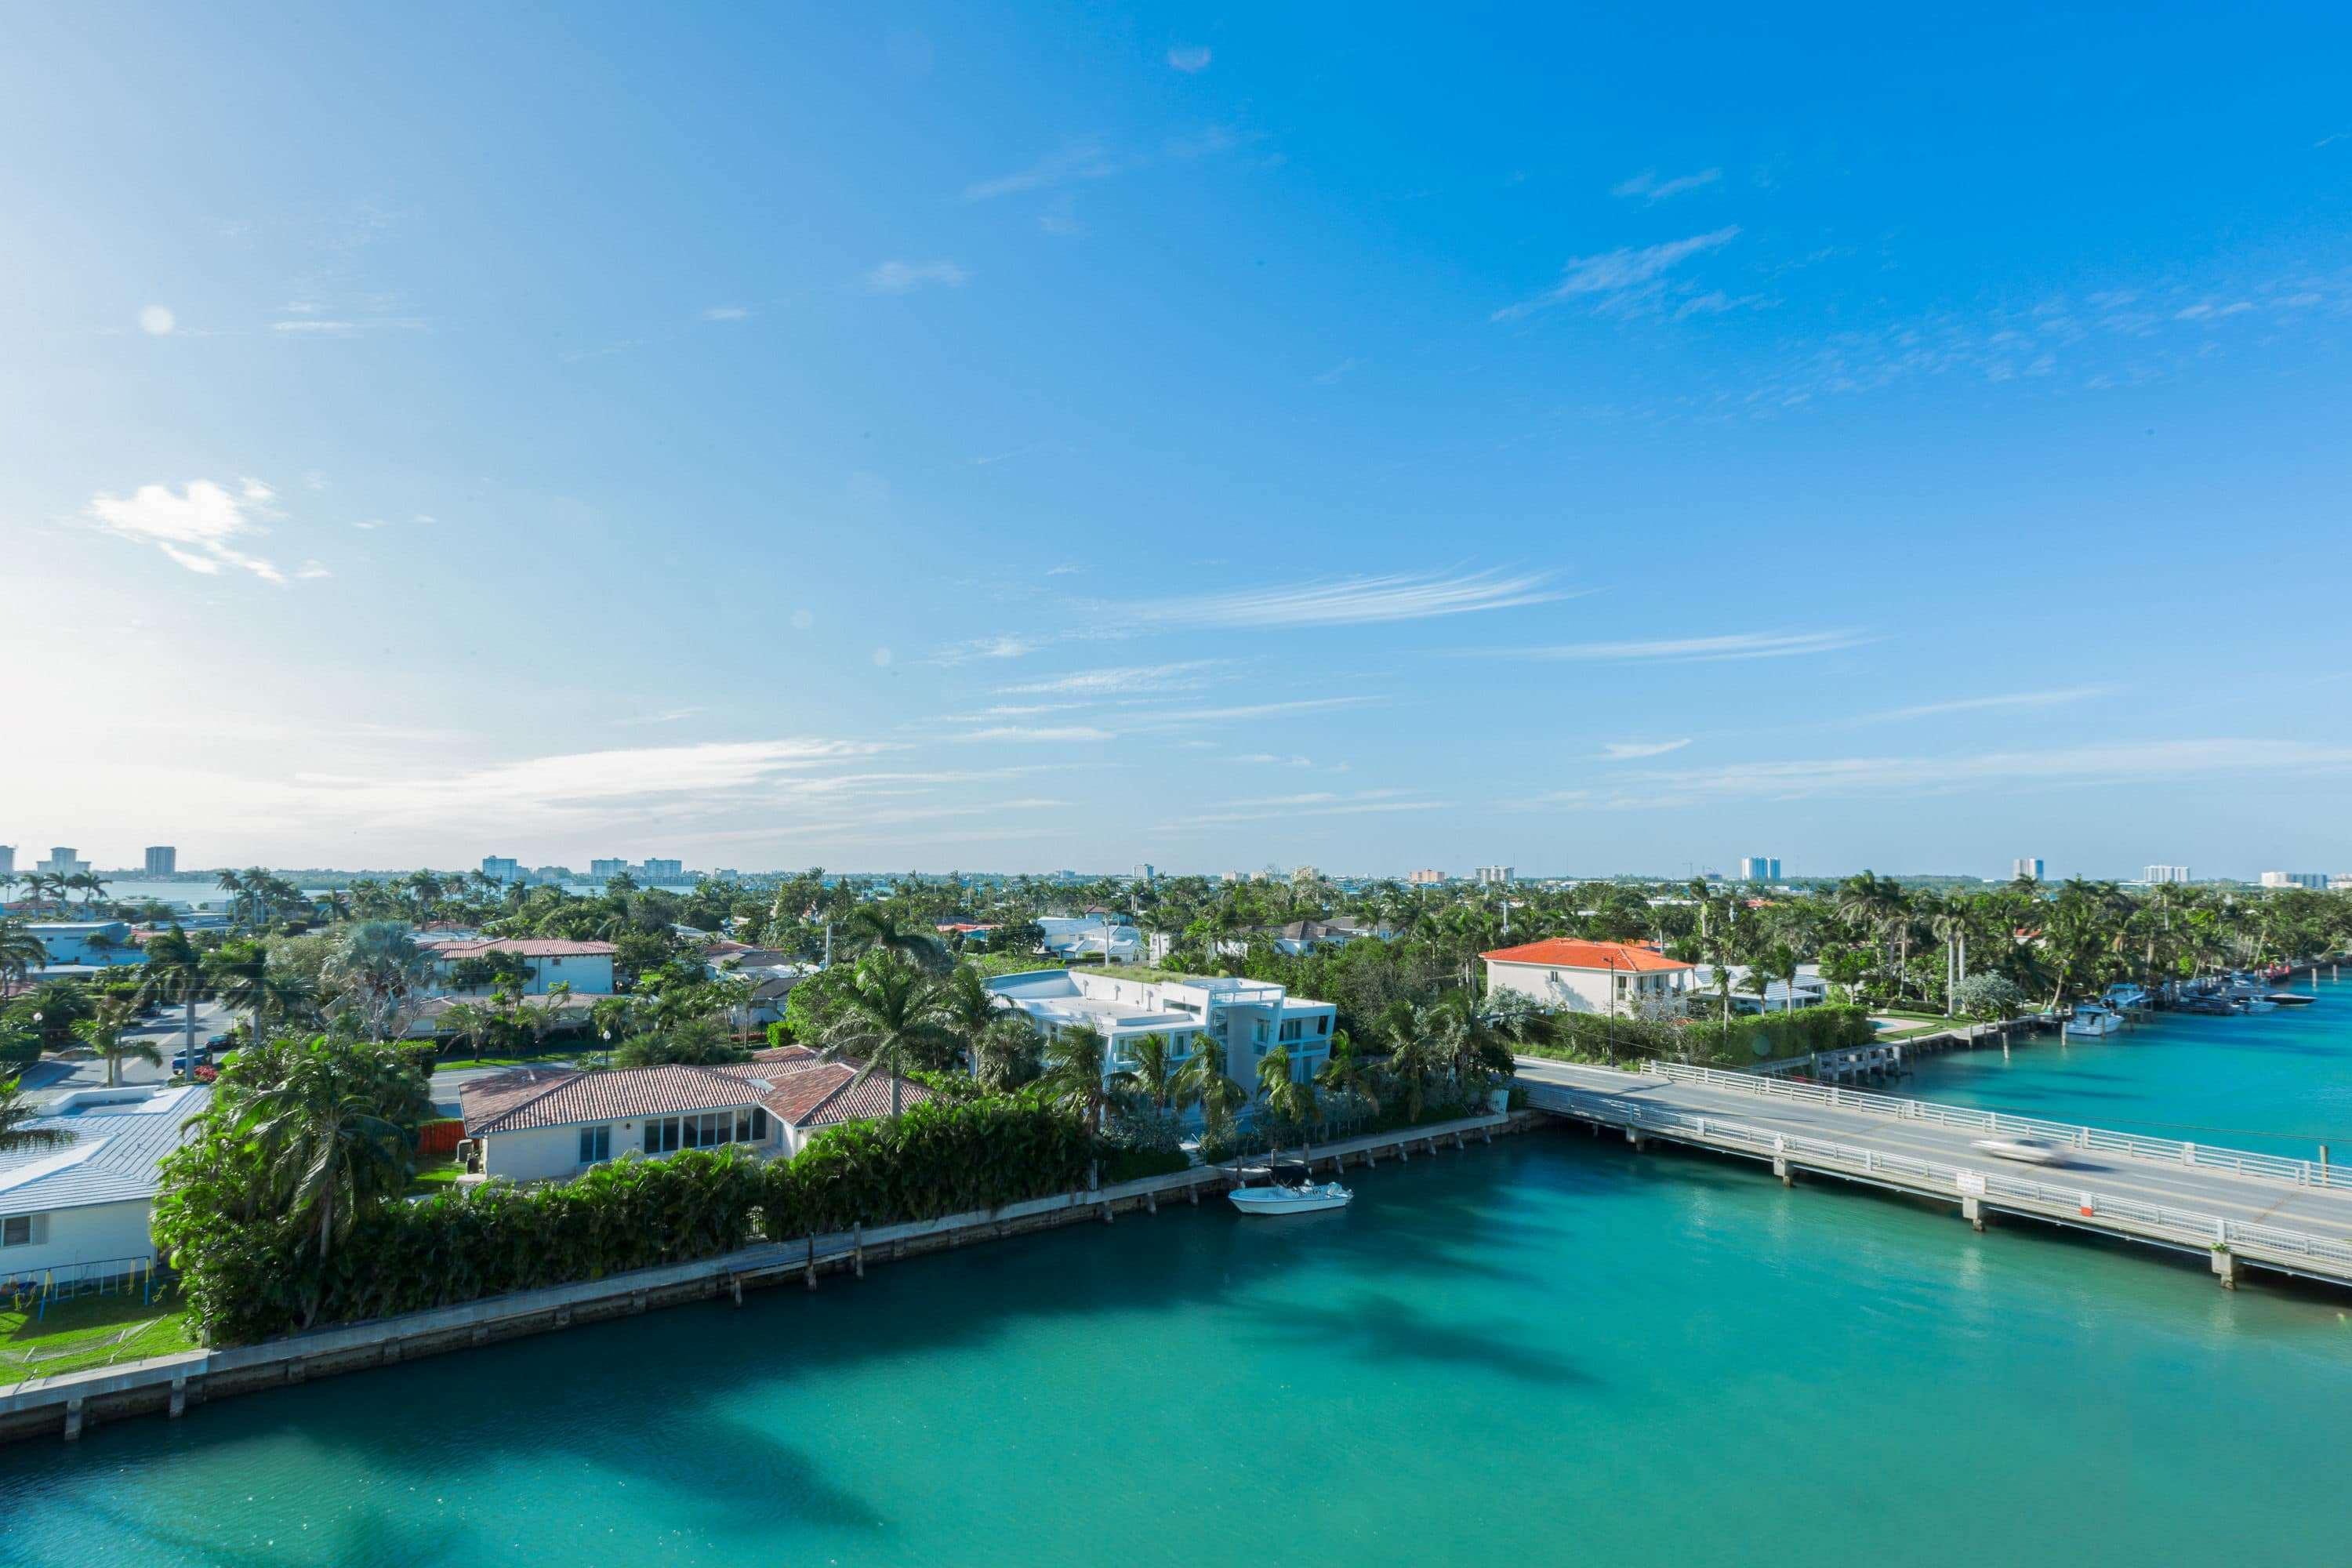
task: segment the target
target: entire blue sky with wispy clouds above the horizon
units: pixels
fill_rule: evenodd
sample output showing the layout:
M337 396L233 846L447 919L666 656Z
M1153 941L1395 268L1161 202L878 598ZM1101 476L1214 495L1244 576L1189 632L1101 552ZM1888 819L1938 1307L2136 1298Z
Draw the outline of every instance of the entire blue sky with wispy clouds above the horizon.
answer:
M736 9L16 19L0 839L2352 870L2338 7Z

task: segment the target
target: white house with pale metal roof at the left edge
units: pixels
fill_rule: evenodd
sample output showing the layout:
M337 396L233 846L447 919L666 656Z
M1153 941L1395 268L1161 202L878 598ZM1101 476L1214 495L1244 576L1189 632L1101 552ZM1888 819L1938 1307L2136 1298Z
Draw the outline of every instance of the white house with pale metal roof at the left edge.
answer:
M209 1103L202 1084L80 1088L26 1124L68 1143L0 1154L0 1286L153 1262L155 1168Z

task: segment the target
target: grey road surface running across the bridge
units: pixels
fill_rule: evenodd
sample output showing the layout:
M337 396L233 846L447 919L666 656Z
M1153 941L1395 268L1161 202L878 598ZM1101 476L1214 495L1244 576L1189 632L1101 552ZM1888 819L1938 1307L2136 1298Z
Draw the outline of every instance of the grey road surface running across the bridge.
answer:
M1912 1159L1933 1159L1969 1171L2020 1175L2046 1187L2098 1187L2098 1192L2119 1199L2164 1204L2246 1225L2277 1225L2352 1244L2352 1192L2336 1187L2296 1187L2284 1180L2133 1159L2105 1150L2067 1150L2067 1164L2063 1166L2016 1164L1969 1147L1976 1138L1985 1138L1980 1131L1938 1126L1933 1121L1898 1121L1870 1112L1832 1110L1828 1105L1769 1100L1738 1088L1677 1084L1637 1072L1583 1067L1534 1056L1519 1058L1519 1081L1529 1086L1529 1103L1536 1110L1545 1110L1541 1088L1557 1086L1630 1105L1708 1117L1710 1121L1740 1121L1790 1138L1823 1138L1882 1154L1910 1154Z

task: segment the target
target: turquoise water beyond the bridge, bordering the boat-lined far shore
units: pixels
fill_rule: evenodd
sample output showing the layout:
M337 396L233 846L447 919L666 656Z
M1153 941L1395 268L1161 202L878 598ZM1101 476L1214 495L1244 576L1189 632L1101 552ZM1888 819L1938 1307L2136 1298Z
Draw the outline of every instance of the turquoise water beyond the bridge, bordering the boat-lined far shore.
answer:
M2286 990L2286 987L2281 987ZM2089 1121L2119 1133L2352 1161L2352 980L2310 976L2303 1009L2244 1018L2157 1013L2105 1039L2018 1037L1917 1065L1896 1093Z

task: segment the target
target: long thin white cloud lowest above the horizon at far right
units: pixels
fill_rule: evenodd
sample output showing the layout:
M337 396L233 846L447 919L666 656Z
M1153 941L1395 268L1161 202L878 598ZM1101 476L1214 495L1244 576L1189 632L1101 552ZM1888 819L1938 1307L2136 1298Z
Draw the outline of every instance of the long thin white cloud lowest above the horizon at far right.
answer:
M1947 757L1806 757L1733 762L1710 769L1625 773L1609 790L1559 790L1536 806L1703 806L1726 799L1806 799L1820 795L1947 795L1969 788L2131 785L2218 773L2343 773L2352 745L2314 741L2126 741L2051 750L1999 750Z

